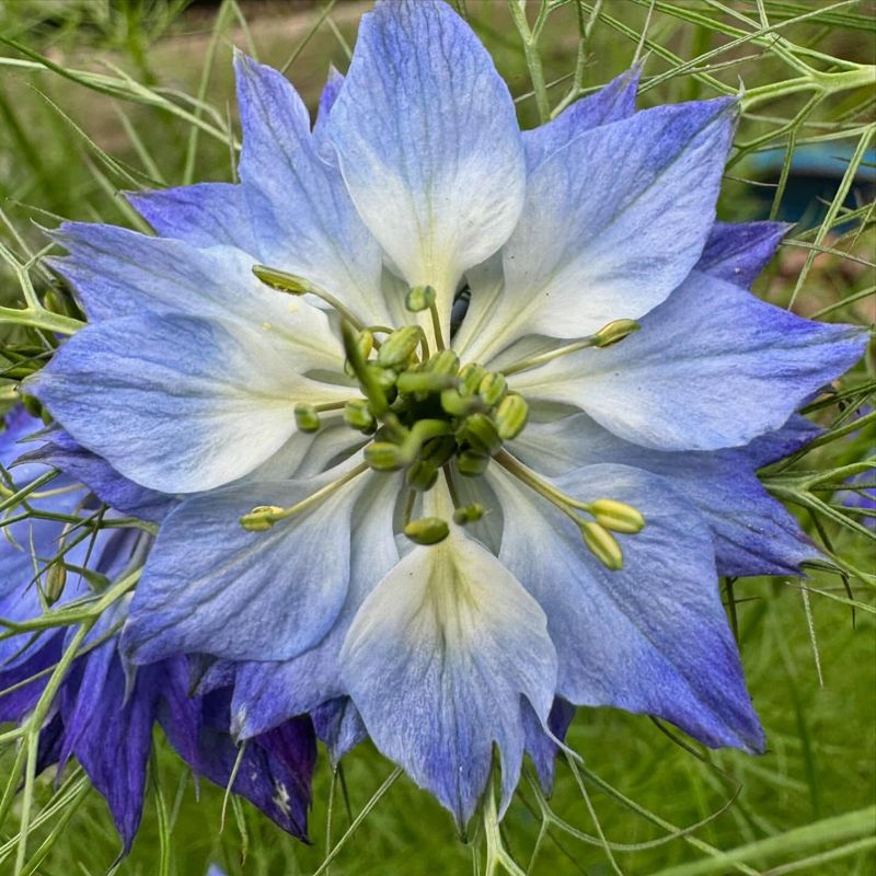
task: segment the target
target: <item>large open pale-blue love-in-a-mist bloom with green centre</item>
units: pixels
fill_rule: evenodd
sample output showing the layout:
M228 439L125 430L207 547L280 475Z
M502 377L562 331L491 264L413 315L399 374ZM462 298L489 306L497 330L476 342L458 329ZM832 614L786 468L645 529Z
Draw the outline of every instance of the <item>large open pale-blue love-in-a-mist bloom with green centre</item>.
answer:
M235 64L240 184L56 234L91 324L30 391L185 499L127 652L216 657L242 737L367 733L460 823L569 703L761 749L716 575L815 554L754 472L864 336L744 288L782 228L715 222L736 102L635 112L634 70L521 132L440 0L362 19L313 129Z

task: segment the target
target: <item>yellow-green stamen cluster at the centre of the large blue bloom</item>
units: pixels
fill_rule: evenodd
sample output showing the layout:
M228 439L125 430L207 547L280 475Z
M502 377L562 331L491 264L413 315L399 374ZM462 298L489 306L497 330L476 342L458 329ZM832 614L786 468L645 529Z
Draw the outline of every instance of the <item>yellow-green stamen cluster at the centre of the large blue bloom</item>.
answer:
M320 293L307 281L272 268L256 266L256 276L273 288L303 295ZM321 298L335 306L327 295ZM495 461L523 484L553 503L579 528L588 550L608 568L619 569L623 554L612 532L638 532L645 521L633 507L613 499L584 503L558 491L525 466L505 448L516 438L529 417L526 400L508 388L506 376L538 367L555 353L534 357L505 371L487 371L480 365L461 365L452 349L446 349L435 306L436 293L429 286L412 288L405 299L412 313L430 311L433 353L425 330L405 325L397 330L365 326L341 307L342 333L346 354L345 371L354 378L364 397L323 405L299 404L296 424L301 431L315 433L322 427L322 414L341 412L344 422L371 440L364 449L364 462L333 484L291 508L260 506L241 518L252 531L264 531L278 520L302 511L333 493L368 469L379 472L404 471L407 500L404 533L417 544L436 544L449 534L448 521L439 517L411 519L418 495L433 489L443 473L453 499L453 522L466 526L480 520L485 508L480 504L461 505L453 487L453 476L480 477ZM601 332L572 347L608 346L635 331L630 321L610 323ZM581 511L587 517L581 517Z

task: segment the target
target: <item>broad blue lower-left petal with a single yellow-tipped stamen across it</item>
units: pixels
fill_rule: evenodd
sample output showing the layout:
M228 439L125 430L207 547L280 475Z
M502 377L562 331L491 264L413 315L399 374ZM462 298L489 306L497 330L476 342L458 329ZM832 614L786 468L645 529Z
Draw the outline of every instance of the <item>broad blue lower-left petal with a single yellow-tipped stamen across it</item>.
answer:
M147 561L123 634L125 652L146 664L196 652L286 660L313 647L346 599L350 516L372 475L265 532L250 532L239 520L255 506L291 507L338 474L247 483L183 503Z

